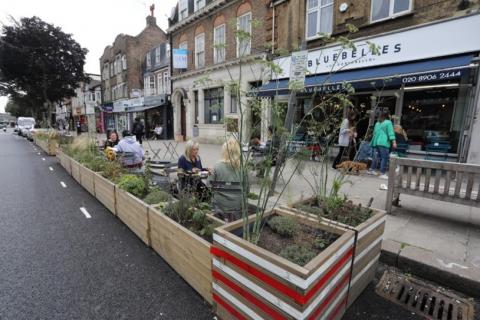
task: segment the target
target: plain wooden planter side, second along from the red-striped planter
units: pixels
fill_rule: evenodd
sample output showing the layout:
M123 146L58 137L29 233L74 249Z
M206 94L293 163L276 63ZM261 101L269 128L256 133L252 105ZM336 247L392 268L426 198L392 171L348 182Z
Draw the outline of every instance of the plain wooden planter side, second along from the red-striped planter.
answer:
M150 245L148 204L115 187L116 213L146 245Z

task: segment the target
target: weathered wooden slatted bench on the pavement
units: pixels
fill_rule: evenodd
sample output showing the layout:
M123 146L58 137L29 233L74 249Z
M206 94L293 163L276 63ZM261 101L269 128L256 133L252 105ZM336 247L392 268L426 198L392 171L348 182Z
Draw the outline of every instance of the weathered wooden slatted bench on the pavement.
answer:
M480 165L390 158L387 202L391 213L400 194L480 207Z

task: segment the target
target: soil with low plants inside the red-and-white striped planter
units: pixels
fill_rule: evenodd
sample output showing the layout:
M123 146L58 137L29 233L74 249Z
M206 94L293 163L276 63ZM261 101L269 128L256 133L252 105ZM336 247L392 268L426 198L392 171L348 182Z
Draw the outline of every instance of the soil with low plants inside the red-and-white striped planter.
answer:
M278 217L271 216L268 220ZM306 265L340 236L296 222L291 236L282 236L265 223L257 245L300 266Z

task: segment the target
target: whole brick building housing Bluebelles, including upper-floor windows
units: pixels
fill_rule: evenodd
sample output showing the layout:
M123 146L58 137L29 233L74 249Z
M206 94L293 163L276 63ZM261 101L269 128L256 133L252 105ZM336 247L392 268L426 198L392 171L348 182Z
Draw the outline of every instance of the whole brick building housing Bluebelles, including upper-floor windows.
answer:
M474 134L480 132L478 1L289 0L272 6L274 47L291 52L304 43L308 50L297 119L348 82L355 110L370 123L389 110L403 126L411 156L480 162L480 135ZM358 32L349 34L347 24ZM325 34L348 36L355 48L328 42ZM286 103L290 59L274 59L283 72L260 88L260 96Z

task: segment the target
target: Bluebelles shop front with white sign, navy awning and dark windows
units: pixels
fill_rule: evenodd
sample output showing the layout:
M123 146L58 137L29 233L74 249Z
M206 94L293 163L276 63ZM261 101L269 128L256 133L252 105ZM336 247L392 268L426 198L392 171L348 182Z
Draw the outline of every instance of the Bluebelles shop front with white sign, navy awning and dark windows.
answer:
M349 99L360 119L367 119L357 130L367 133L363 128L388 110L406 131L411 156L441 153L449 160L466 161L469 145L480 143L471 136L479 90L480 42L472 41L475 30L480 30L480 15L357 40L354 50L339 46L311 50L310 75L305 89L297 93L297 118L325 96L351 85L354 93ZM448 45L442 39L449 39ZM368 43L375 44L379 54L364 51ZM285 101L289 60L276 62L284 73L260 88L259 95Z

